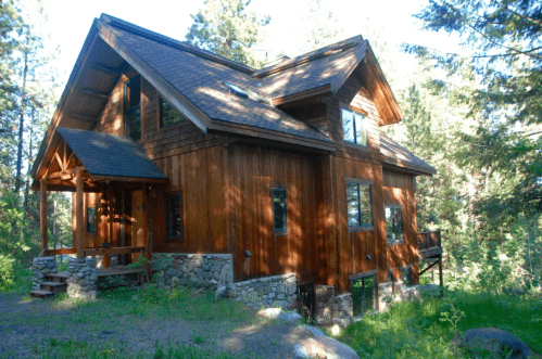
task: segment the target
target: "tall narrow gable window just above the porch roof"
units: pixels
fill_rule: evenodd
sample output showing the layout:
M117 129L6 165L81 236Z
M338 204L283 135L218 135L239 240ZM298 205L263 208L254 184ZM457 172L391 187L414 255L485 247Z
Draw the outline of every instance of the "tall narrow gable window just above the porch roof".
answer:
M141 76L124 82L124 136L141 139Z

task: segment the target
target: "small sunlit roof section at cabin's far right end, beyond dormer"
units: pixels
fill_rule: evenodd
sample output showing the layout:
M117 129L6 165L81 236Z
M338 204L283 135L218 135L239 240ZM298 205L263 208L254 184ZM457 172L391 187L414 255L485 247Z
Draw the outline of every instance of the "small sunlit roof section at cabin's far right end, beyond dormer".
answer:
M434 167L393 141L386 133L380 133L380 153L388 164L404 166L428 175L437 174Z

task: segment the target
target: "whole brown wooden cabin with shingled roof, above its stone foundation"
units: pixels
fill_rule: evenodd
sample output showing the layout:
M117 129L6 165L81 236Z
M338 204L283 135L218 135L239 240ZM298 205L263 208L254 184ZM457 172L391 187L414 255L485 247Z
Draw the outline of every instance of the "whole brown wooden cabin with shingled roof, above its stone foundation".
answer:
M102 15L33 168L43 248L47 191L72 191L73 248L50 254L231 254L236 282L337 293L417 283L442 253L416 223L415 178L436 170L380 130L402 118L362 36L254 69Z

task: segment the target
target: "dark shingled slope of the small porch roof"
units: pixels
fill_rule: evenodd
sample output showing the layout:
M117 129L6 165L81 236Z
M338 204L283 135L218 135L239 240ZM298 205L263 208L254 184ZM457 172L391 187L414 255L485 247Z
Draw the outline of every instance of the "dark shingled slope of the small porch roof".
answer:
M90 177L167 179L143 149L128 137L64 127L58 131Z

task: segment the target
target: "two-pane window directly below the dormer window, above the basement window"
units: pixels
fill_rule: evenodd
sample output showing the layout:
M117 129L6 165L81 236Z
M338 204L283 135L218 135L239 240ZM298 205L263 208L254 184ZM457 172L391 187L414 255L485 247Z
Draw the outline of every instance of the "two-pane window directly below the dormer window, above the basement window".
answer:
M373 226L371 185L367 183L346 183L349 227Z

